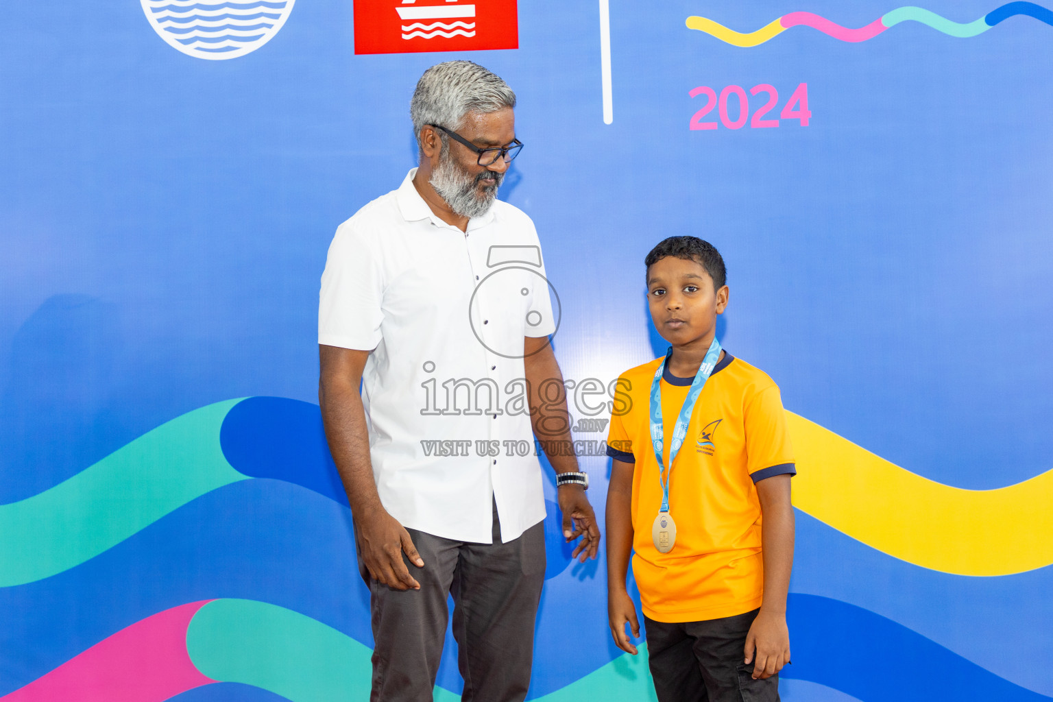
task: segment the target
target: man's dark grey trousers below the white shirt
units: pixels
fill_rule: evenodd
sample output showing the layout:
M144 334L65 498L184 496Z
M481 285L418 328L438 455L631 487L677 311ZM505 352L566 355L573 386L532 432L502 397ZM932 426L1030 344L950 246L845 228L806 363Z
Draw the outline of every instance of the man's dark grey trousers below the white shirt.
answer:
M396 590L370 578L373 615L371 702L432 702L453 595L457 665L464 702L522 702L530 686L534 624L544 583L544 530L539 522L501 543L453 541L408 529L424 566L405 562L419 590Z

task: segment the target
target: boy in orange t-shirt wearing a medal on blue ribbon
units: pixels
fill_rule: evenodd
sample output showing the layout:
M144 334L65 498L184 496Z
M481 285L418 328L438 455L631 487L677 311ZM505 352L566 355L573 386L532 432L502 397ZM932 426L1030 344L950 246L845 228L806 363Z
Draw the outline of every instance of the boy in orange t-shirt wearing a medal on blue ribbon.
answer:
M635 549L659 702L777 702L796 474L779 388L716 339L728 286L712 244L671 237L644 262L651 318L672 347L618 380L628 398L608 436L611 634L636 654L625 634L640 635L625 589Z

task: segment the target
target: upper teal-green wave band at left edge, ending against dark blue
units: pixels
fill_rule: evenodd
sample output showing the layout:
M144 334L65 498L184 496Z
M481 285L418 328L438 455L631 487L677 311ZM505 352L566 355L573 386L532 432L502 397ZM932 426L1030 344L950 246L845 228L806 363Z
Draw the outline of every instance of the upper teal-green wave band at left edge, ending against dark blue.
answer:
M67 570L217 487L245 480L219 444L241 399L177 417L68 480L0 505L0 587Z

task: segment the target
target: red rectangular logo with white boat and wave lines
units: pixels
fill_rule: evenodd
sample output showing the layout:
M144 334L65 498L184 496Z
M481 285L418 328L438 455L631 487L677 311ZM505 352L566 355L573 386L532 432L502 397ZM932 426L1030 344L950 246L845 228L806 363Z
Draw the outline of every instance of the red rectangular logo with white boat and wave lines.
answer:
M355 0L355 53L519 48L516 0Z

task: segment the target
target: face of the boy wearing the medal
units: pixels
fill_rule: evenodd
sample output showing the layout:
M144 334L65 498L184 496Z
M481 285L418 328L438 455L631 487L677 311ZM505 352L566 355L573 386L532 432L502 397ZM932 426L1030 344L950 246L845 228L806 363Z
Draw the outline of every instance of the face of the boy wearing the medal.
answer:
M667 256L648 268L648 305L665 341L674 346L708 346L717 315L728 306L728 286L714 290L713 278L700 263Z

